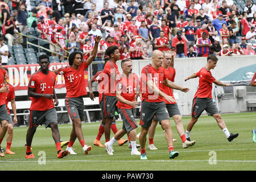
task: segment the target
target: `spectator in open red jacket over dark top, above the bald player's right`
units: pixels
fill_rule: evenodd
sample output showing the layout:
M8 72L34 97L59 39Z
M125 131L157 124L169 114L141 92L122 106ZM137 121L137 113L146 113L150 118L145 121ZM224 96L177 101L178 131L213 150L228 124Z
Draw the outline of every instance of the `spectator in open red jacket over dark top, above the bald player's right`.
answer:
M172 39L172 46L176 49L177 57L186 57L187 56L187 43L184 37L181 35L180 31L177 31L176 36Z

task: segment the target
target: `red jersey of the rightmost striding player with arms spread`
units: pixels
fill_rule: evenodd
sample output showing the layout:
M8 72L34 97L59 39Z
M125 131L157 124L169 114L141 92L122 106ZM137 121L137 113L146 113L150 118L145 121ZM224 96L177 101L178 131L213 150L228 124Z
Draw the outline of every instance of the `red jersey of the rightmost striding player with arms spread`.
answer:
M199 77L199 88L194 98L212 98L212 82L216 80L212 73L204 67L196 73L196 76Z

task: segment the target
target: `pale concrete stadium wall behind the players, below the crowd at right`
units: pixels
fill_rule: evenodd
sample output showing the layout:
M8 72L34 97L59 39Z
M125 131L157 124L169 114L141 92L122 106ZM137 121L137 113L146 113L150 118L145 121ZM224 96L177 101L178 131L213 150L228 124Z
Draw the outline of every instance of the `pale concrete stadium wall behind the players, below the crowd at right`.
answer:
M246 67L256 63L256 56L229 56L229 57L218 57L217 67L212 70L212 75L220 80L221 78L229 75L230 73L236 71L241 67ZM133 60L133 72L137 73L138 76L141 75L142 68L151 63L152 60ZM122 73L121 61L117 62L119 72ZM199 85L199 78L194 78L188 81L184 81L185 77L192 75L192 73L198 72L207 63L205 57L196 58L179 58L175 59L174 67L176 69L175 84L180 86L186 86L190 90L188 93L180 92L179 90L174 90L177 104L179 105L182 115L191 114L191 105L193 96L196 93L197 86ZM256 72L256 70L255 70ZM240 111L247 111L246 101L253 100L256 102L256 94L251 96L245 96L243 98L236 98L236 90L245 89L245 86L235 86L234 98L219 98L218 106L221 113L233 113ZM212 89L213 99L216 100L214 94L214 84Z

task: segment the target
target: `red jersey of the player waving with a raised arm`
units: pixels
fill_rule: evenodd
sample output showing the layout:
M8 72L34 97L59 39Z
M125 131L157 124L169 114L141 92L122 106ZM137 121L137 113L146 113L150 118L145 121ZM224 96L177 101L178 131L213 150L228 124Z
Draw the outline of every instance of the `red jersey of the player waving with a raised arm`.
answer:
M87 94L85 88L84 71L88 68L86 61L80 65L78 69L73 69L70 65L58 69L58 74L63 75L68 98L85 96Z

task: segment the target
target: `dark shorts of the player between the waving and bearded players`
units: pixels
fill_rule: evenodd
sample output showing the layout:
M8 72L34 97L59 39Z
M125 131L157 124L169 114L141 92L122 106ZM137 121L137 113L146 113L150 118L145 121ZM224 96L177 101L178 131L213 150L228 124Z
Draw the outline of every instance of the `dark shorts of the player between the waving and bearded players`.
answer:
M103 94L100 107L102 111L102 118L115 117L115 110L117 110L117 97Z

